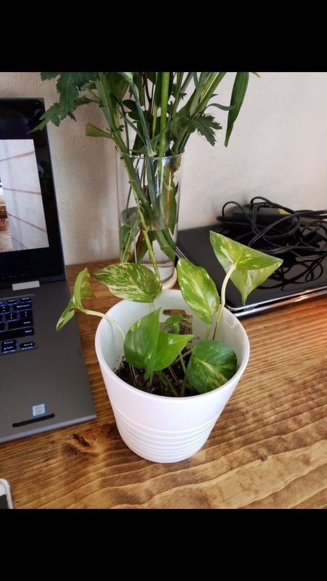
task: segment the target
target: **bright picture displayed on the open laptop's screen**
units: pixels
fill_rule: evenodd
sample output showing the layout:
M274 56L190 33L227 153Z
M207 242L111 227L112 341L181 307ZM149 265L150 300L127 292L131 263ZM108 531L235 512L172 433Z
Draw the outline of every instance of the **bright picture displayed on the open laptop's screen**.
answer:
M0 252L48 248L33 139L0 139Z

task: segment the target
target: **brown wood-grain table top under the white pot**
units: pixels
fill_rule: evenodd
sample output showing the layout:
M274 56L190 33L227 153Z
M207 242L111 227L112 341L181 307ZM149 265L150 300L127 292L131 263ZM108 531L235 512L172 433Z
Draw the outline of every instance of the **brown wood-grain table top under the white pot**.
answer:
M80 270L68 268L70 285ZM94 290L92 309L117 300ZM77 320L98 419L1 445L16 508L327 508L327 297L242 321L245 374L203 449L174 464L120 439L95 355L99 320Z

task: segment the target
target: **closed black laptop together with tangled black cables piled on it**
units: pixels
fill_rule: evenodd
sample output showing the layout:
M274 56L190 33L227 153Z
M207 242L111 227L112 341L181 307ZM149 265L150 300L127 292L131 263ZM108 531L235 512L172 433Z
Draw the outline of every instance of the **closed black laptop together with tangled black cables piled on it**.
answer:
M258 217L259 212L253 214L253 207L243 208L243 211L238 206L235 217L218 218L223 218L221 224L214 223L178 232L178 256L206 268L219 291L225 272L215 258L210 244L211 230L283 259L282 266L263 285L251 292L245 305L242 305L236 287L231 282L228 283L226 306L237 317L288 306L327 292L326 212L310 213L306 210L303 213L293 213L290 209L280 212L279 207L267 207ZM279 222L285 216L289 217Z

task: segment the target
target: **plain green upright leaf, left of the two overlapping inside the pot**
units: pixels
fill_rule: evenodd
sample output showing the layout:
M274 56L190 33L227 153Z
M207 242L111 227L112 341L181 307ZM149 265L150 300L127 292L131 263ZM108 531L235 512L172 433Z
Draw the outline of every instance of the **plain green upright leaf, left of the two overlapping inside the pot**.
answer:
M159 312L160 308L136 321L125 337L125 358L134 367L145 370L145 379L149 379L156 358Z

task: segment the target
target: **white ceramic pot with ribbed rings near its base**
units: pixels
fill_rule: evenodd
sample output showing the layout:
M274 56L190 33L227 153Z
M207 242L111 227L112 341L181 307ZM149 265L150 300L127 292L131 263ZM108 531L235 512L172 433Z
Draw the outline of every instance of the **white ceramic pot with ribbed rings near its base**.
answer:
M203 338L207 325L192 313L179 290L165 290L156 299L162 307L160 320L166 320L165 309L184 309L193 315L193 335ZM148 303L122 300L108 311L127 333L131 325L150 312ZM177 462L193 456L210 435L229 397L239 382L249 360L250 347L239 320L224 310L218 340L227 343L238 358L238 368L231 379L212 392L192 397L163 397L142 392L114 374L123 355L120 333L106 320L96 331L95 349L103 381L125 444L136 454L153 462Z

